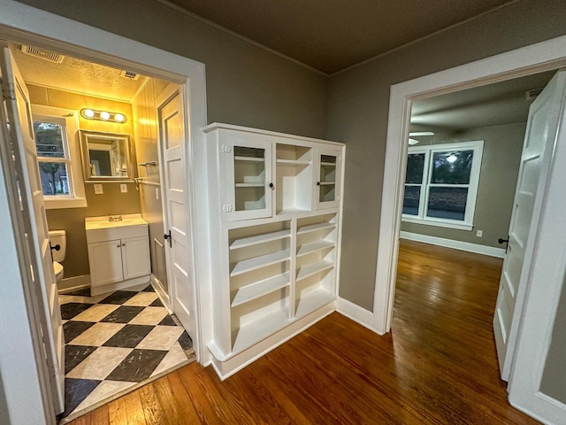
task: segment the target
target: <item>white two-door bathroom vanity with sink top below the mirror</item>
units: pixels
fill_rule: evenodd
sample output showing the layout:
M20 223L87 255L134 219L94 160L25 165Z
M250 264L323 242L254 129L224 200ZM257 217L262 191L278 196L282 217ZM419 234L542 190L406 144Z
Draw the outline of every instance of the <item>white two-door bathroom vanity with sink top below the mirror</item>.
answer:
M141 214L87 217L92 296L149 282L149 226Z

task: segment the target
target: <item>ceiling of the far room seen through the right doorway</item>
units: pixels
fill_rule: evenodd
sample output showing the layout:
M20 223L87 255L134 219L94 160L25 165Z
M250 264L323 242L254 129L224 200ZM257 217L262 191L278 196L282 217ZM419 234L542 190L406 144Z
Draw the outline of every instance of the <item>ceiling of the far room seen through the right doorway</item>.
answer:
M525 92L542 89L555 71L418 100L411 109L411 131L458 131L526 122L532 100Z

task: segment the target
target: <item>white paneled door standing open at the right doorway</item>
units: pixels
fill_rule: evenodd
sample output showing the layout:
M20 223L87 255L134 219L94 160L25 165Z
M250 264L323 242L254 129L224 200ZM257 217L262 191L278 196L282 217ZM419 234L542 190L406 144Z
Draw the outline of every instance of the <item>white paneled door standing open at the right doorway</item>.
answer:
M530 280L533 246L539 230L542 195L558 131L566 74L556 73L529 110L523 154L509 225L509 245L503 261L493 332L501 379L509 380L524 294Z

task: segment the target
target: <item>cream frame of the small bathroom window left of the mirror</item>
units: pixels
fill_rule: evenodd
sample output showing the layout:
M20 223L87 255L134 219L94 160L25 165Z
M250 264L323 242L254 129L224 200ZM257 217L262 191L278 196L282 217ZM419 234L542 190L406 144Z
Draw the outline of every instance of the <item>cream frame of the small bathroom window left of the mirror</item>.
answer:
M78 113L70 109L55 108L41 104L32 104L31 107L34 121L55 122L60 124L64 129L64 158L42 157L39 153L37 154L38 164L40 162L58 162L65 164L67 184L69 186L69 195L43 195L45 209L86 207L87 198L85 196L80 158Z

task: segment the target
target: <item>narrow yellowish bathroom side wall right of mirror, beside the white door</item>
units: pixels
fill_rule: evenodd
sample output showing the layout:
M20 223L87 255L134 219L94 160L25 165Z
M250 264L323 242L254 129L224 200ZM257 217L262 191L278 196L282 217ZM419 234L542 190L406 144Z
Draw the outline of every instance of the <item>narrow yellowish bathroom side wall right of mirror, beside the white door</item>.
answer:
M157 166L138 166L138 175L142 177L142 182L139 185L142 217L149 223L151 273L162 282L165 288L167 288L167 270L159 178L156 99L166 85L166 81L150 78L132 101L138 163L149 161L157 163Z

